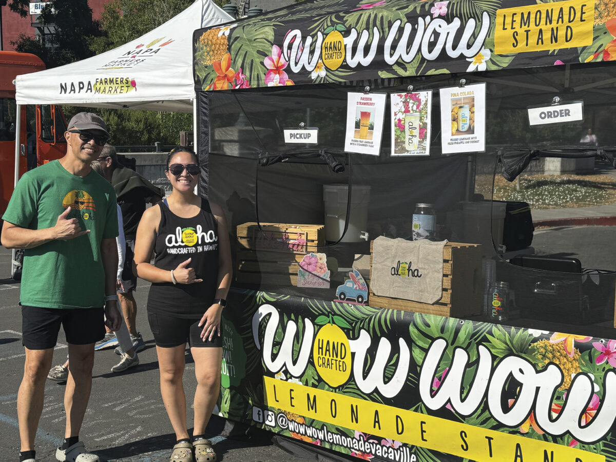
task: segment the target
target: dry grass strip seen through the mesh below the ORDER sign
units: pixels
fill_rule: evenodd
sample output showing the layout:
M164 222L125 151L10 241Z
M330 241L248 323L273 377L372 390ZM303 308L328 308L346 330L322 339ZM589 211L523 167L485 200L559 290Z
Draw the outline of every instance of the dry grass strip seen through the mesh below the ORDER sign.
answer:
M533 209L575 208L616 203L616 178L609 175L532 175L508 182L498 175L477 175L475 192L484 198L528 202Z

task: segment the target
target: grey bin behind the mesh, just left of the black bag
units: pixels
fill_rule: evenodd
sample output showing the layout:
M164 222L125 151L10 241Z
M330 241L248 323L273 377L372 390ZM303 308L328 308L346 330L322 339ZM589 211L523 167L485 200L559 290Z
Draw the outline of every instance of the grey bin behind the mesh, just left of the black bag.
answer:
M490 227L496 248L503 243L506 203L499 201L463 202L464 239L474 243ZM491 210L490 210L491 209ZM492 220L490 220L490 213ZM474 239L474 240L473 240Z

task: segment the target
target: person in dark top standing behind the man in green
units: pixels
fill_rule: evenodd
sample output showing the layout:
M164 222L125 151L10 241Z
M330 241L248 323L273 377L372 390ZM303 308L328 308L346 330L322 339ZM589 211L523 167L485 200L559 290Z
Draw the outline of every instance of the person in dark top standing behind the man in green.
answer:
M111 176L111 184L118 195L118 204L122 209L124 221L124 237L126 237L126 259L122 272L122 286L118 290L120 304L126 326L131 334L132 344L136 352L144 349L145 344L141 334L137 332L137 302L133 291L137 290L137 277L132 272L132 258L135 249L137 225L144 214L147 203L156 203L163 198L163 191L157 188L136 171L126 168L118 161L115 147L106 144L99 158L105 171L105 176ZM105 338L96 346L96 350L118 346L115 334L107 332ZM122 354L121 346L116 347L116 354Z

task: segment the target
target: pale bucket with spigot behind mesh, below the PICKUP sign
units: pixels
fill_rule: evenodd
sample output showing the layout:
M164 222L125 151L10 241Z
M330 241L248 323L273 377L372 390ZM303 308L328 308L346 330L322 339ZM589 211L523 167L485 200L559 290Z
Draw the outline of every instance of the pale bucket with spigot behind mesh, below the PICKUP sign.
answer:
M323 201L325 202L325 240L337 241L344 231L346 220L347 198L349 185L324 184ZM360 233L367 231L368 202L370 201L370 186L351 185L351 214L349 227L341 242L360 242Z

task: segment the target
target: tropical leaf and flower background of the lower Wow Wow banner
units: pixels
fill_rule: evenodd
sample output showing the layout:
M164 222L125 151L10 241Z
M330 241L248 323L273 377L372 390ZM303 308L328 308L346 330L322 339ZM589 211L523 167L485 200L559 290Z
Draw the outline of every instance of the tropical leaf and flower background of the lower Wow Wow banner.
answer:
M256 347L254 335L259 338L261 348L265 338L265 321L272 314L265 317L255 317L257 310L263 306L275 307L278 316L278 325L275 326L272 357L283 353L283 345L288 345L285 339L286 326L294 323L297 329L292 342L291 357L297 358L301 349L305 348L304 342L309 342L310 360L301 376L294 377L285 367L276 373L267 370L264 357ZM264 376L278 380L290 381L316 390L332 392L345 397L350 397L359 402L372 402L381 405L393 406L404 410L410 410L421 415L438 416L439 418L466 424L468 426L490 429L540 442L574 447L588 453L605 456L608 462L616 462L616 440L614 440L614 423L607 434L598 435L596 442L586 444L578 442L569 433L562 435L550 435L542 431L535 422L533 414L527 417L527 421L520 426L509 427L498 421L492 415L492 411L483 400L479 407L471 415L461 415L451 403L439 410L431 410L421 399L419 394L419 377L426 361L431 346L437 341L445 341L446 347L440 357L436 373L432 381L432 394L436 393L440 386L447 380L447 374L453 364L456 349L462 349L468 354L468 365L464 369L461 381L461 397L468 396L479 367L479 349L486 349L496 368L506 358L517 357L524 360L536 371L541 371L548 364L556 365L563 373L563 383L553 396L552 415L556 416L564 408L567 392L575 375L582 373L593 379L594 398L587 403L586 411L582 415L583 422L592 421L598 412L600 403L609 392L606 390L605 376L608 371L614 372L616 367L616 340L591 339L590 337L573 336L570 334L552 333L548 331L535 331L525 328L495 325L485 322L471 322L456 318L439 317L436 315L403 312L389 309L376 309L370 306L347 304L344 302L323 301L311 298L294 296L282 296L273 293L264 293L248 290L232 290L229 294L230 310L225 317L232 328L243 339L246 352L245 371L240 373L243 379L239 386L230 386L221 390L218 409L222 416L249 424L263 426L271 431L301 439L312 444L323 445L339 452L352 454L368 460L395 460L388 457L378 457L375 454L367 454L354 450L349 445L338 445L306 434L296 433L286 428L278 428L276 424L259 423L256 420L254 410L272 410L264 402ZM225 311L226 311L225 310ZM255 324L255 319L257 324ZM312 326L312 327L311 327ZM320 369L312 355L312 343L315 342L314 333L320 328L328 326L330 331L342 333L348 341L359 338L367 333L373 346L365 352L365 370L361 371L365 379L376 363L378 363L378 351L375 348L381 339L388 339L392 346L391 352L384 364L382 378L384 383L389 383L400 366L401 354L397 346L398 339L403 339L410 346L410 364L408 374L403 381L399 394L387 397L375 389L372 392L362 390L362 386L355 381L355 376L349 378L340 386L330 386L320 374ZM336 326L336 327L334 327ZM307 333L314 332L307 337ZM485 357L485 355L484 355ZM351 363L349 363L351 364ZM521 384L514 379L506 382L501 400L505 405L512 406L518 399ZM275 408L273 408L275 410ZM352 428L342 428L339 425L318 421L314 417L302 416L285 411L286 418L298 424L310 426L314 429L323 428L331 434L344 436L349 441L357 439L370 442L387 440L376 435L363 434ZM382 440L382 441L381 441ZM376 443L375 443L376 444ZM387 443L389 444L389 443ZM391 444L399 445L399 442ZM396 446L400 447L400 446ZM404 447L402 445L401 447ZM466 461L461 456L454 456L438 452L436 450L408 446L407 450L415 454L421 461ZM370 457L368 457L370 455ZM470 460L468 460L470 462Z

